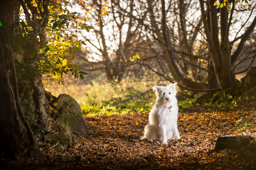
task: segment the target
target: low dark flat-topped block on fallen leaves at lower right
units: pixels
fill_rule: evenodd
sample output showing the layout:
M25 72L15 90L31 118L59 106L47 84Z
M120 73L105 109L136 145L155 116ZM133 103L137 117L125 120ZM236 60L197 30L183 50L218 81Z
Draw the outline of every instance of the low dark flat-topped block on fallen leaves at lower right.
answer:
M216 141L214 150L219 151L224 149L236 149L247 147L250 141L252 140L254 140L254 137L250 136L220 136Z

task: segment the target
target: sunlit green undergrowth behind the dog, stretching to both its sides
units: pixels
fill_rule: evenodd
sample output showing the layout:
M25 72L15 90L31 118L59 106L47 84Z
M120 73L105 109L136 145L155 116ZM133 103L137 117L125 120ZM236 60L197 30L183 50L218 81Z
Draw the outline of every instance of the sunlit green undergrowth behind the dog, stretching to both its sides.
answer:
M152 92L155 85L167 84L165 81L126 81L104 82L92 80L90 84L82 82L67 83L64 86L55 84L54 88L60 93L69 94L81 107L84 115L113 115L126 113L146 113L154 106L156 95ZM58 97L56 90L52 86L46 86L46 90ZM180 110L194 107L196 95L186 90L178 88L178 106ZM216 97L215 97L216 99ZM238 103L249 100L248 97L233 97L230 95L218 95L215 101L200 104L204 107L217 107L226 109L237 109ZM199 104L196 104L198 106Z

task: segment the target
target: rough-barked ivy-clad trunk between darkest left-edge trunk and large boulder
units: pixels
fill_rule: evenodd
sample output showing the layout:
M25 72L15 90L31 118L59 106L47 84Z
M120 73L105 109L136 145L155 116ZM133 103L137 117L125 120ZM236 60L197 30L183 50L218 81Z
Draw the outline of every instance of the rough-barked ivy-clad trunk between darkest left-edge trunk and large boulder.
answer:
M25 80L24 82L30 82L30 83L24 83L19 82L19 89L22 89L22 92L24 89L28 89L26 94L27 100L33 100L35 103L35 111L37 111L39 119L38 122L42 123L42 125L45 127L46 131L49 132L51 127L50 123L48 121L48 114L46 111L47 104L46 104L46 98L44 93L44 88L41 82L42 76L38 73L37 63L36 63L36 57L37 57L37 50L42 48L44 46L44 29L48 23L48 0L44 2L44 12L42 12L42 23L38 23L36 20L33 20L35 17L35 11L36 9L29 9L30 12L33 14L33 16L30 16L30 13L28 11L28 8L26 6L26 2L24 0L2 0L0 1L0 19L4 25L6 25L6 28L8 27L8 30L14 34L15 27L17 22L19 22L19 12L20 12L20 6L24 9L24 13L26 15L26 21L28 22L28 25L33 27L32 34L30 35L29 41L25 41L23 47L24 51L26 53L24 54L16 54L16 56L19 57L18 61L20 62L26 62L30 65L31 69L34 70L35 74L31 75L31 70L28 70L27 68L24 68L24 71L26 72L26 76L30 77L28 80ZM30 2L28 2L30 3ZM28 6L29 7L29 6ZM19 29L18 29L19 30ZM21 32L18 32L21 33ZM37 36L40 36L39 43L36 43ZM19 70L18 70L19 71Z

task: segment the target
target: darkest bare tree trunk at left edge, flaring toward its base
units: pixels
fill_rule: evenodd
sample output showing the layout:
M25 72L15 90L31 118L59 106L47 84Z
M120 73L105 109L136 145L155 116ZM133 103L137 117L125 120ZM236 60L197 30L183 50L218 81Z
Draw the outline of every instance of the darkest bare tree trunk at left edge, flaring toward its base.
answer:
M0 80L0 158L42 156L24 118L12 48L4 27L0 27Z

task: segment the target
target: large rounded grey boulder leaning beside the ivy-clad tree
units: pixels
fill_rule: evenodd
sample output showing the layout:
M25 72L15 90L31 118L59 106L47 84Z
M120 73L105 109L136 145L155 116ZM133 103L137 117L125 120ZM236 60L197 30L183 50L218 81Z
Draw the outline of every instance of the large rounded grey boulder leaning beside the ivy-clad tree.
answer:
M76 100L68 94L60 94L56 103L58 104L58 114L54 117L54 120L64 127L69 126L72 131L87 135L89 128Z

